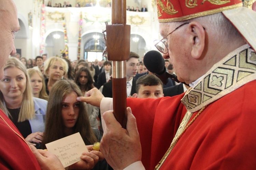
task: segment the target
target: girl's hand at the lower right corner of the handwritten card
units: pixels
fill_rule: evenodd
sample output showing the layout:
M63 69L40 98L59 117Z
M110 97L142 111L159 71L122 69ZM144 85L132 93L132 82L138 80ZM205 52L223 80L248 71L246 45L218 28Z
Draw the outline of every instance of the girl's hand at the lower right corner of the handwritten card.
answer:
M83 152L79 162L69 166L69 169L93 169L94 166L104 159L103 154L100 151L93 151L93 145L86 146L88 152Z

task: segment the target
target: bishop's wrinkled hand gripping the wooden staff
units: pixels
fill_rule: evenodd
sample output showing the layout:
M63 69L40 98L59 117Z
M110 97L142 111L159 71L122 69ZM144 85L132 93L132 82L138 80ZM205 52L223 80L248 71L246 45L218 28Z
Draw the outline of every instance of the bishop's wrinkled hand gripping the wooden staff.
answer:
M100 142L100 151L113 169L124 169L141 160L140 136L136 118L127 108L127 129L123 129L114 117L113 111L103 114L106 126Z

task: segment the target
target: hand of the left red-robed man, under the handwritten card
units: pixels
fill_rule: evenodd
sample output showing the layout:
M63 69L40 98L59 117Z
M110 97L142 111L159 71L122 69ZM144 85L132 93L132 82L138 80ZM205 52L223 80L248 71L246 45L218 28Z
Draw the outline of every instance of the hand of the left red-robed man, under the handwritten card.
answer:
M53 153L42 149L36 149L32 145L29 147L32 150L42 170L64 169L60 160Z

